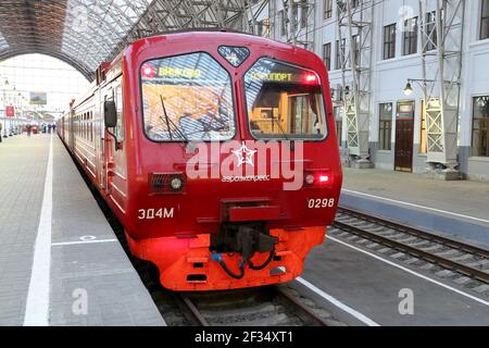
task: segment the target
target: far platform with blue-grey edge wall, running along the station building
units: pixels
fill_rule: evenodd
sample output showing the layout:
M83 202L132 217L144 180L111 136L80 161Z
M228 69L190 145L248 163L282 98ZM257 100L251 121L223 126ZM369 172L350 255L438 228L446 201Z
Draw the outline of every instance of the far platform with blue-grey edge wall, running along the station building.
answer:
M343 169L340 204L489 247L489 184Z

